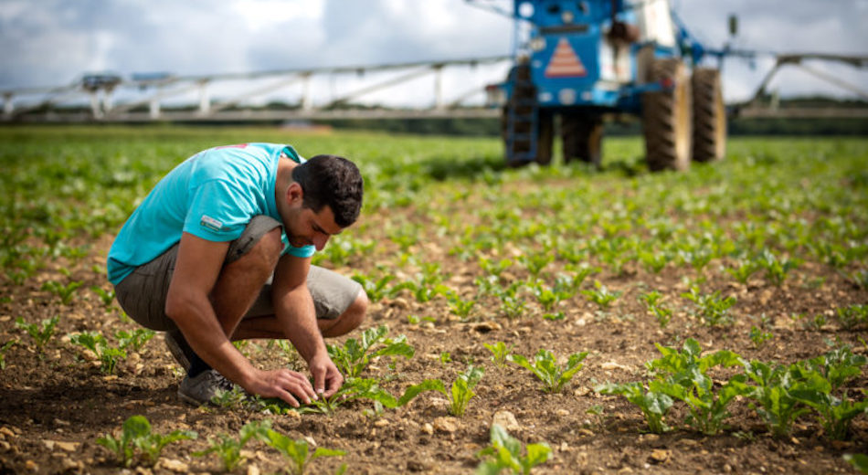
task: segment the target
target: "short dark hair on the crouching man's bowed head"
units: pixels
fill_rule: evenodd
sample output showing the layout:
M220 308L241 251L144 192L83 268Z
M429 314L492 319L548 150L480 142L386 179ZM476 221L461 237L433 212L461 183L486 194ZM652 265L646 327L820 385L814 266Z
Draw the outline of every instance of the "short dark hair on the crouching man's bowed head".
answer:
M353 162L337 155L316 155L292 170L292 181L302 185L302 206L319 213L328 205L334 224L355 223L362 208L364 181Z

